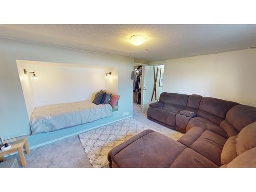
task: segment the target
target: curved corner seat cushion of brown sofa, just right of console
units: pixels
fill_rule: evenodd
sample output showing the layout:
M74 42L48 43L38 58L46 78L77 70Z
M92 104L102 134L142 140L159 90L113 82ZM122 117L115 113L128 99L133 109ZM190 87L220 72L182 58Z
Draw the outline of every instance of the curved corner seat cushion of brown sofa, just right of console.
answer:
M190 119L187 123L186 131L190 130L191 127L194 127L194 126L203 127L206 130L214 132L226 139L228 138L226 132L223 129L221 129L220 126L218 126L215 123L213 123L207 119L204 119L202 117L195 117L195 118Z

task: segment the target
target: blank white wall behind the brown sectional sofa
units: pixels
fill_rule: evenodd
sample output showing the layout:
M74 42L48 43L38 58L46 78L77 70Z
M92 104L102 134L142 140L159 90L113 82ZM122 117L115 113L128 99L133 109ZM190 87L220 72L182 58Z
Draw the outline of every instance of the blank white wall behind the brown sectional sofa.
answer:
M165 63L164 92L200 94L256 106L256 50L186 57Z

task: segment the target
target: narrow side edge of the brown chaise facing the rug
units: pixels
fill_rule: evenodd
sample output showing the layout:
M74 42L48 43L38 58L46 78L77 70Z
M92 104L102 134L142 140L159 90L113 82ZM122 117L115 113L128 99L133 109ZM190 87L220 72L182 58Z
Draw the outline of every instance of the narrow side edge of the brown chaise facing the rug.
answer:
M112 148L112 150L109 152L108 154L108 160L110 162L110 167L111 167L111 157L115 156L116 154L118 154L120 151L123 150L123 148L125 148L126 146L130 145L131 143L133 143L134 141L138 140L139 138L143 137L144 135L147 135L151 132L154 132L153 130L145 130L137 135L135 135L134 137L132 137L131 139L128 139L126 141L124 141L123 143L115 146L114 148Z

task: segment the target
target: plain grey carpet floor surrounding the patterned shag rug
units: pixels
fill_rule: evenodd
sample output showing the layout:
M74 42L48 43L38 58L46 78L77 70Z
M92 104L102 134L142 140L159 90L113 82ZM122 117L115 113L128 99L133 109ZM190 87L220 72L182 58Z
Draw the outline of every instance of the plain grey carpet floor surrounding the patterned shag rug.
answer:
M179 132L148 120L146 114L140 112L139 105L136 104L134 104L133 118L166 136L173 137L174 134L177 138L182 136ZM18 155L6 159L13 157L16 157L19 161ZM25 157L27 160L26 167L92 167L89 158L84 153L78 135L34 148L29 155L25 153Z

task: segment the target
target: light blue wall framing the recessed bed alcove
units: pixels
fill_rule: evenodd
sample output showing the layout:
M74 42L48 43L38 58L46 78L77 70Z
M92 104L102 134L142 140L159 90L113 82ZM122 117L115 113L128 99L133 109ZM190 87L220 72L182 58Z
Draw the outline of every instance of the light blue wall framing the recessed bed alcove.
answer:
M119 110L114 116L67 129L29 136L30 146L38 146L92 127L133 114L133 81L130 79L134 59L110 54L78 51L31 42L0 38L0 136L4 139L30 135L29 117L17 71L16 60L108 66L118 71Z

